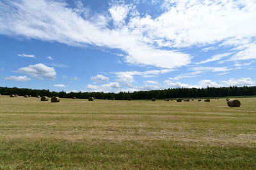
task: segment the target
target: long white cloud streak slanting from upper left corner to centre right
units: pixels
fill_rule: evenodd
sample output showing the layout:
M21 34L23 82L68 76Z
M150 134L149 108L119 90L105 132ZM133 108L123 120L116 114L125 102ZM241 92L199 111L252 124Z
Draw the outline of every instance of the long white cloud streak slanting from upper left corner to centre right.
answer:
M118 29L99 26L97 21L81 17L81 13L61 1L10 1L0 5L0 34L57 41L72 46L90 44L120 49L127 54L126 62L142 66L172 68L186 66L191 60L186 53L148 45L147 37L144 38L143 33L128 25Z

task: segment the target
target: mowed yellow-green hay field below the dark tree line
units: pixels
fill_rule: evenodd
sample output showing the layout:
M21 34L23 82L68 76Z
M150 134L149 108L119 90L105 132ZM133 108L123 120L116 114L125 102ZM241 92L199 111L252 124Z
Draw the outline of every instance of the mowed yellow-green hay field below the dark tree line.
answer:
M0 169L256 169L256 98L0 96Z

